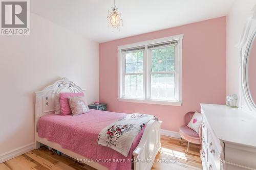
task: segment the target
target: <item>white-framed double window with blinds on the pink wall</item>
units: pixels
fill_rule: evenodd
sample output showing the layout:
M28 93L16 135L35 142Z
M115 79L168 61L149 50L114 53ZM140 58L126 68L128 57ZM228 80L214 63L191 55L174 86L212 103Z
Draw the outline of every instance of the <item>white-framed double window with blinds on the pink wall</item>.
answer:
M119 101L181 106L182 38L119 46Z

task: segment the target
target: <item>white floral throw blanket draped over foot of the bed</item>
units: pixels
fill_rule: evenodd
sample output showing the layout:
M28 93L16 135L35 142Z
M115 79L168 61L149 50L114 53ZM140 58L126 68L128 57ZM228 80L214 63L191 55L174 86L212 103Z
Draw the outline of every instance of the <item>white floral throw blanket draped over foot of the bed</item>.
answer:
M157 118L148 114L129 114L102 129L99 133L98 145L112 148L127 156L134 138L150 120Z

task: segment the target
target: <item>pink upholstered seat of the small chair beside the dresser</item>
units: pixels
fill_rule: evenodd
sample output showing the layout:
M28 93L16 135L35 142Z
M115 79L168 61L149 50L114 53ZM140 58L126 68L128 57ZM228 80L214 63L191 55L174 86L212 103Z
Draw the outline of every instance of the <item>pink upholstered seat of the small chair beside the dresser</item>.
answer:
M189 142L201 143L199 134L186 125L180 127L180 135Z

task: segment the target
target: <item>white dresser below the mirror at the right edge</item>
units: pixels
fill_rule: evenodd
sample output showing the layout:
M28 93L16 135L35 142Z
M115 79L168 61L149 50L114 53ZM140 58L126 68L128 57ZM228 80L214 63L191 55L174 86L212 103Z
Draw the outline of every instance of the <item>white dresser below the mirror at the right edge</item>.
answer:
M256 117L213 104L201 104L201 113L203 169L256 169Z

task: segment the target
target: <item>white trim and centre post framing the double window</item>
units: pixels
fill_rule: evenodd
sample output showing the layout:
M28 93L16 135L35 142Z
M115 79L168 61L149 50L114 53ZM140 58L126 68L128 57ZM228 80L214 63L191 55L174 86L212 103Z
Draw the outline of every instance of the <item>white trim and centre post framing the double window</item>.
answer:
M160 105L172 105L172 106L181 106L182 104L182 39L183 39L183 34L180 35L175 35L175 36L170 36L170 37L164 37L164 38L159 38L159 39L154 39L154 40L148 40L148 41L142 41L142 42L137 42L137 43L132 43L132 44L126 44L126 45L121 45L118 46L118 100L120 102L134 102L134 103L147 103L147 104L160 104ZM155 44L155 43L161 43L161 42L167 42L167 41L174 41L178 40L177 44L177 62L176 68L177 68L177 84L175 84L175 88L178 89L178 96L179 96L179 101L163 101L163 100L151 100L148 99L148 90L149 85L148 85L148 80L146 81L146 78L148 77L149 74L149 67L150 67L150 62L146 57L147 57L147 47L144 50L144 72L143 72L143 94L145 96L145 99L131 99L131 98L122 98L122 88L123 88L123 56L122 56L122 49L125 48L132 48L132 47L137 47L137 46L143 46L143 45L148 45L148 44ZM177 76L177 75L175 75ZM176 87L177 85L177 87ZM145 93L146 91L146 93Z

